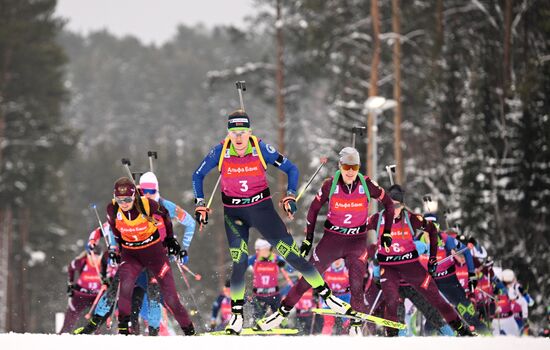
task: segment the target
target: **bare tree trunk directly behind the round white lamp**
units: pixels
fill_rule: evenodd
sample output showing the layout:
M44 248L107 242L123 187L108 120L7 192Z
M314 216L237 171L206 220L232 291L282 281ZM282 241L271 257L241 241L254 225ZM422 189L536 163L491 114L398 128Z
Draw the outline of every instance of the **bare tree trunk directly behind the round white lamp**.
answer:
M369 84L369 97L376 96L378 94L378 66L380 64L380 15L378 13L378 0L371 0L371 19L372 19L372 31L373 31L373 54L371 63L371 75ZM367 119L367 175L370 178L374 177L374 120L375 116L373 112L370 112Z

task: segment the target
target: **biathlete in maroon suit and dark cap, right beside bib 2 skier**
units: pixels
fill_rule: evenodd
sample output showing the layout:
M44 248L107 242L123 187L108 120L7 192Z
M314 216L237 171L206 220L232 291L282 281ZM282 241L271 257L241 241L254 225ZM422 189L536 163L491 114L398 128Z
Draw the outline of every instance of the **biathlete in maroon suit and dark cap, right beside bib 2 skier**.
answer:
M391 240L388 240L383 232L385 217L381 213L376 213L369 218L368 228L376 229L379 232L377 258L380 264L382 293L386 300L385 318L397 321L398 303L392 301L398 300L399 284L400 280L403 280L429 300L447 323L457 331L458 335L472 336L473 333L469 327L462 322L454 308L439 294L437 285L431 277L437 267L437 229L433 223L424 220L421 215L415 215L405 209L403 204L404 191L400 185L391 186L389 193L395 206ZM415 230L426 231L430 235L429 273L418 261L418 252L413 240ZM396 329L386 328L388 336L396 336L397 333Z

